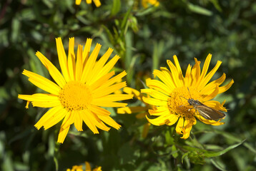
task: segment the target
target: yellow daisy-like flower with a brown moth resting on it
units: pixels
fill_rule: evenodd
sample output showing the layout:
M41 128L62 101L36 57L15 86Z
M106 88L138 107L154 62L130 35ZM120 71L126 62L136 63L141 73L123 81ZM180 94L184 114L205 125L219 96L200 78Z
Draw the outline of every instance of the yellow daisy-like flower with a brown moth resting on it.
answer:
M225 81L225 73L215 81L209 83L212 76L220 67L221 61L217 61L216 66L207 73L212 55L209 54L206 58L205 64L200 69L200 61L195 58L195 66L187 66L185 76L182 75L182 70L179 66L177 56L173 56L174 64L167 60L170 71L167 68L161 68L161 71L155 70L154 76L157 76L161 81L150 80L147 81L148 89L142 89L142 93L147 93L151 98L144 97L145 103L157 106L154 110L149 110L150 115L157 118L148 118L153 125L176 125L176 132L182 134L183 139L189 138L192 125L197 123L195 117L203 123L209 125L222 125L220 120L207 120L199 115L198 111L189 105L186 99L192 98L199 100L201 103L207 105L215 110L222 110L227 112L223 107L223 103L219 103L212 98L217 94L223 93L232 86L234 81L230 81L226 86L220 86Z

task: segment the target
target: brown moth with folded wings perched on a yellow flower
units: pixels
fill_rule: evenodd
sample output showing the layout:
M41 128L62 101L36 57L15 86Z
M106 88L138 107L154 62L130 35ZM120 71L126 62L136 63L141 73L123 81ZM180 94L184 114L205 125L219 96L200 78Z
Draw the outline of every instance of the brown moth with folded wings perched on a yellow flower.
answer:
M189 88L187 89L189 90ZM190 95L190 92L189 92L189 95ZM191 98L191 95L189 99L187 98L184 98L184 99L186 99L187 103L189 103L189 105L192 105L193 108L195 108L195 110L197 110L198 113L207 120L219 120L225 117L224 113L220 112L219 110L210 108L207 105L204 105L199 100L194 100L193 98ZM189 110L191 110L191 108Z

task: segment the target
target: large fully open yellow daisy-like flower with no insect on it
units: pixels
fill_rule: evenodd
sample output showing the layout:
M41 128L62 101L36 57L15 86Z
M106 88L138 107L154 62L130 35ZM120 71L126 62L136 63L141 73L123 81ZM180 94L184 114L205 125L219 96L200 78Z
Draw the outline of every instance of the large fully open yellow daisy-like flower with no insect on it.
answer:
M111 70L117 63L119 56L116 55L107 62L113 51L112 48L109 48L97 61L99 49L101 48L101 45L97 43L94 51L89 56L91 44L92 39L87 38L84 50L83 46L79 45L76 58L74 38L69 38L69 53L67 57L61 38L56 38L59 64L63 75L43 54L39 51L36 52L36 56L47 68L56 83L36 73L23 71L23 74L29 77L31 83L49 94L19 95L18 98L28 101L26 108L28 108L29 102L36 107L51 108L34 125L37 129L44 126L46 130L64 119L59 131L58 142L60 143L64 142L69 127L73 123L78 131L82 131L82 123L84 121L94 134L99 133L97 128L108 131L110 128L107 125L119 129L120 125L109 116L110 112L101 107L124 107L127 103L119 103L117 101L133 97L133 95L128 94L111 94L126 86L125 82L117 83L117 81L126 76L127 73L123 71L114 76L114 71Z

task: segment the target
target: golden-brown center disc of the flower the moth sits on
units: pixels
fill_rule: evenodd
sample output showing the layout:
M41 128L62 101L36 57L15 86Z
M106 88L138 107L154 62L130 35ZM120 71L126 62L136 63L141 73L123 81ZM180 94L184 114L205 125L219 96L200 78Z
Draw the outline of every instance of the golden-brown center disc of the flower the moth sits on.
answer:
M175 88L169 97L168 108L170 113L174 113L185 119L194 117L195 113L195 109L193 109L192 105L189 105L187 100L192 98L202 102L202 95L200 95L197 88L193 87L189 87L189 89L187 87Z

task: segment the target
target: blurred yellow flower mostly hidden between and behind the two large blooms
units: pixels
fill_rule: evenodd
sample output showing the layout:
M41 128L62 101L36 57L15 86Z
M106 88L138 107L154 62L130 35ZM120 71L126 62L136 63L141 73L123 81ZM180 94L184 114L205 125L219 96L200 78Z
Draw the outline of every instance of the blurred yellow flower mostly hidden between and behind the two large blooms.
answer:
M135 90L134 88L125 87L123 89L123 91L124 91L124 93L133 94L134 98L137 98L137 100L140 100L140 101L142 101L142 103L144 103L144 101L142 100L142 97L144 97L144 95L142 93L140 93L138 90ZM130 107L118 108L117 113L119 113L119 114L138 113L136 115L136 118L143 119L143 118L146 118L146 115L149 115L148 110L152 109L152 108L154 108L154 106L144 103L144 106L130 106ZM144 124L143 130L142 130L142 138L147 137L147 133L149 132L150 125L151 125L151 123Z

